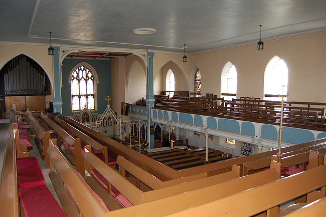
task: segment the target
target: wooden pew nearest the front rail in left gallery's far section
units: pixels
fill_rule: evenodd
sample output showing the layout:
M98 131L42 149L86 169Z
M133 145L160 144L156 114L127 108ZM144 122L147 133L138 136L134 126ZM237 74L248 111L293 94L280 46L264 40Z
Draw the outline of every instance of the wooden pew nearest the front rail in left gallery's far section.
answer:
M75 135L81 141L83 141L84 146L90 145L92 147L92 150L89 150L89 151L91 151L92 153L95 152L95 155L98 156L100 159L102 159L105 162L105 164L110 165L113 169L116 167L117 161L115 158L108 155L106 146L103 146L100 143L96 142L95 140L90 138L85 133L80 132L78 129L67 124L65 121L61 120L58 117L55 117L55 121L57 121L57 123L59 123L63 128L67 129L67 131L70 131L71 133L73 133L73 135ZM94 151L94 150L96 150L96 151Z

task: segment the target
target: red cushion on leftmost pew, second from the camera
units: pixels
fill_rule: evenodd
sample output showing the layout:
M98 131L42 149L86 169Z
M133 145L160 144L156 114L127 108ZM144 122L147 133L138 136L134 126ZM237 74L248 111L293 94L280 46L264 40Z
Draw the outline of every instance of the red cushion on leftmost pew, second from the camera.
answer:
M45 180L36 157L17 159L17 179L20 188L45 184Z

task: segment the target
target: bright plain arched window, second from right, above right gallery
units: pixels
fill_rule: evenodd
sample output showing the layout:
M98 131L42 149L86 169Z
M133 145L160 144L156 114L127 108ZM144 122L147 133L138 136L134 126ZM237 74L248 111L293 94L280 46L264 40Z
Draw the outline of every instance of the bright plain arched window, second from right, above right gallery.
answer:
M221 73L221 93L233 93L237 91L237 71L231 62L227 62ZM225 100L232 100L236 96L222 96Z

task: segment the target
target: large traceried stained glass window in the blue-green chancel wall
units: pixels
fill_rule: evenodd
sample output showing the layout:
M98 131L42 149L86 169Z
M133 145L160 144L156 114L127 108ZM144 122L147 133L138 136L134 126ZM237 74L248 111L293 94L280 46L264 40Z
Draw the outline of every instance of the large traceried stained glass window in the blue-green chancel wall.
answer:
M95 109L94 106L94 77L92 72L79 66L71 75L72 110Z

